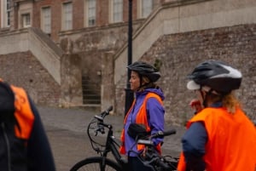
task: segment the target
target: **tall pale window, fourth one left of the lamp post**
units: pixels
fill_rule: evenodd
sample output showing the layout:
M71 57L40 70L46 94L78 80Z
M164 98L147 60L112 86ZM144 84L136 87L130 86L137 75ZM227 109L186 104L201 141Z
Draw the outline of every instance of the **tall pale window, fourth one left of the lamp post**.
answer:
M42 22L41 22L41 29L45 33L49 34L51 32L51 11L50 7L44 7L42 9Z

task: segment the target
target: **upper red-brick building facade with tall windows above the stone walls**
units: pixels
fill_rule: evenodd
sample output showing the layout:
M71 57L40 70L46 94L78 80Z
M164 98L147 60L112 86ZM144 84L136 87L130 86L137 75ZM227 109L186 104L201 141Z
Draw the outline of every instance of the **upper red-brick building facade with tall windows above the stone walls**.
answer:
M133 0L133 20L146 18L163 2ZM38 27L58 42L60 31L127 22L128 6L123 0L3 0L1 28Z

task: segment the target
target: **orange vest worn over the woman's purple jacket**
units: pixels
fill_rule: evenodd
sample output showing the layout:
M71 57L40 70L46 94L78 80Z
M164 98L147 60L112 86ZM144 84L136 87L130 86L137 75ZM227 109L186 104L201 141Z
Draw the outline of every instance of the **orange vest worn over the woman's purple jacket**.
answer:
M149 98L155 98L156 100L158 100L160 102L160 104L162 105L163 102L160 99L160 96L158 94L154 94L154 93L148 93L143 101L143 105L141 106L141 108L139 109L138 113L137 113L137 117L136 117L136 123L142 123L143 125L146 126L146 130L147 132L150 132L150 127L148 126L148 117L147 117L147 111L146 111L146 106L147 106L147 101ZM135 100L133 100L133 103L131 105L130 110L127 112L126 116L125 116L125 121L124 124L126 123L127 117L131 111L131 109L133 108L133 106L135 105ZM121 154L125 154L125 130L122 130L121 133L121 141L122 141L122 145L119 148L119 151ZM144 145L137 145L137 150L143 150ZM156 146L157 151L160 152L160 145Z

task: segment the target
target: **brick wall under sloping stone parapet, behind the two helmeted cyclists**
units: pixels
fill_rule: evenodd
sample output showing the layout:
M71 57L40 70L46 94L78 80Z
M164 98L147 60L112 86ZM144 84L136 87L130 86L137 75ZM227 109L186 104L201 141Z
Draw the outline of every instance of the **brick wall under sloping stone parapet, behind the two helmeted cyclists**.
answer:
M140 60L154 64L160 60L162 77L158 82L166 100L166 122L183 124L191 117L186 76L203 60L223 60L241 70L243 80L237 96L252 119L256 118L256 25L222 27L162 36ZM127 76L116 85L116 112L124 114Z

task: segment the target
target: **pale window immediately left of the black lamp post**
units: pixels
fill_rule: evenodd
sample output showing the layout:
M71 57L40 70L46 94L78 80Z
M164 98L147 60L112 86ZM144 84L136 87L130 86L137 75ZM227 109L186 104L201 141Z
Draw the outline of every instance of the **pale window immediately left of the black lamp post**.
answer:
M110 22L123 21L123 0L111 0L109 7Z

